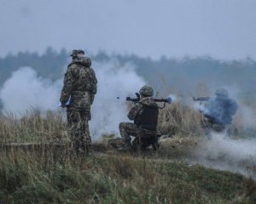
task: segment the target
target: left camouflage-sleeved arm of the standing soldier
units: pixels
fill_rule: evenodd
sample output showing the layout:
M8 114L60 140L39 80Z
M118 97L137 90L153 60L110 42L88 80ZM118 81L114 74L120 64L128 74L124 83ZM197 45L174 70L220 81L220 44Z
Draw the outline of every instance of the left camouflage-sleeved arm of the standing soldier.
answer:
M63 88L61 90L61 105L66 104L73 88L74 78L71 68L67 68L67 72L64 77Z

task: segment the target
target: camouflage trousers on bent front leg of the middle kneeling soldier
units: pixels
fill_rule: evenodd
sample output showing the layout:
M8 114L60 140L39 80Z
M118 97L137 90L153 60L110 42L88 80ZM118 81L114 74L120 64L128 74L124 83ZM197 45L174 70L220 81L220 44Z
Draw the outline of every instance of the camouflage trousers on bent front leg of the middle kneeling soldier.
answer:
M123 139L123 143L126 144L131 142L130 136L137 137L138 127L132 122L120 122L119 131Z

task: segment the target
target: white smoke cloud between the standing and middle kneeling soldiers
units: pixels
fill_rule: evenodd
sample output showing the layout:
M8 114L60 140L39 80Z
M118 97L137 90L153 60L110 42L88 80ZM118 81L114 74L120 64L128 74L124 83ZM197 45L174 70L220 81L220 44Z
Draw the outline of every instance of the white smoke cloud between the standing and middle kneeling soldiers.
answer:
M98 92L92 105L91 133L119 133L119 122L127 122L126 96L135 93L145 84L131 65L119 67L115 62L96 64ZM119 97L119 99L117 99Z

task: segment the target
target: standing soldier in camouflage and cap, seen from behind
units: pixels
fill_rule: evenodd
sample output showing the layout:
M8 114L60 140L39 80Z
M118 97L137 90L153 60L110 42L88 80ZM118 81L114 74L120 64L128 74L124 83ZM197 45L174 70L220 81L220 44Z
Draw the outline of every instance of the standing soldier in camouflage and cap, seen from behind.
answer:
M96 75L91 60L83 50L73 50L72 63L67 66L61 90L61 106L67 107L68 135L77 153L88 153L91 146L90 105L96 94Z

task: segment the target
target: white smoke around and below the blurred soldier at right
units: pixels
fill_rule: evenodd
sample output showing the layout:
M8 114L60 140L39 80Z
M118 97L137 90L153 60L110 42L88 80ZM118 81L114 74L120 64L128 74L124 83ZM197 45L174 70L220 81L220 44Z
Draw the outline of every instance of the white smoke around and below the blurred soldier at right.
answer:
M232 128L236 129L239 135L233 135L235 132L232 131L227 132L231 128L229 126L223 133L212 131L211 139L202 139L197 148L195 162L256 178L256 138L252 137L252 134L247 136L247 129L256 133L255 111L242 103L239 97L243 93L241 89L235 86L225 87L225 89L228 90L230 99L236 100L238 105L236 115L233 116ZM212 88L212 95L214 95L213 90L216 89ZM195 111L207 112L205 102L193 101L189 105ZM237 136L240 139L237 139Z

